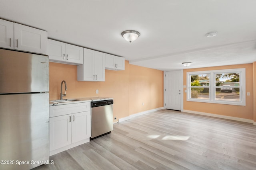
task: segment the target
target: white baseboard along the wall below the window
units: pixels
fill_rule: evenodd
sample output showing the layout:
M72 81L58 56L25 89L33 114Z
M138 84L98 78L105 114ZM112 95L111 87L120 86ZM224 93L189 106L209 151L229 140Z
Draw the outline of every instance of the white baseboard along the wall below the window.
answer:
M240 118L240 117L217 115L217 114L213 114L213 113L204 113L204 112L192 111L192 110L183 110L183 112L194 113L194 114L198 114L198 115L211 116L211 117L218 117L218 118L222 118L222 119L230 119L230 120L235 120L235 121L242 121L242 122L247 122L247 123L253 123L253 125L256 125L256 122L254 122L253 120L244 119L244 118Z

